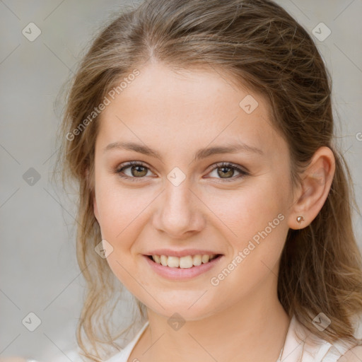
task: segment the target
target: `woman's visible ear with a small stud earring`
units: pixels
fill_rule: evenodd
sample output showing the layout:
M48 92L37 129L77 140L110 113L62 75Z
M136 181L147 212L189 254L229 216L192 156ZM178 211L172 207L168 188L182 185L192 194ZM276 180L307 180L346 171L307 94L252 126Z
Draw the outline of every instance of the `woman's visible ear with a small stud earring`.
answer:
M297 230L312 223L325 204L334 171L333 151L325 146L318 148L301 175L301 185L288 216L289 228ZM299 216L302 216L300 222L297 220Z

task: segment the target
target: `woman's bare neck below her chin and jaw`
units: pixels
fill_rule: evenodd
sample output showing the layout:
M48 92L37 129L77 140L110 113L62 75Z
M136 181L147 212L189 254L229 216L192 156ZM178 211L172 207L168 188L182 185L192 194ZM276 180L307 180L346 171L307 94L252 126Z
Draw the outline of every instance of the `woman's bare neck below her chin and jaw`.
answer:
M276 362L290 319L275 285L269 284L267 295L265 286L259 291L262 296L252 291L247 300L209 317L187 320L177 330L168 325L168 317L148 309L149 326L137 352L140 361Z

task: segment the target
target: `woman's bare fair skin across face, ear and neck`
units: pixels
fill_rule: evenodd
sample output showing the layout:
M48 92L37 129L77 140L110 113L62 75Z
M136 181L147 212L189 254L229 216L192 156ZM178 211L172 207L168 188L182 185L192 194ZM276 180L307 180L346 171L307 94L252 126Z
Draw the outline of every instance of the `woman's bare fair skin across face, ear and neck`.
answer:
M288 229L308 226L325 203L333 153L320 148L303 183L293 189L286 141L272 127L261 95L231 86L213 69L175 73L151 63L139 70L101 114L93 195L102 238L113 247L107 262L148 312L149 327L129 361L275 362L290 322L276 293L281 251ZM250 114L239 106L246 95L259 103ZM104 151L116 141L153 148L162 161L135 151ZM238 151L192 163L199 148L235 142L262 154ZM123 170L135 182L115 173L127 161L146 164L133 174L132 167ZM250 174L238 177L237 170L226 169L223 178L218 162ZM186 177L178 186L167 178L175 167ZM137 177L137 171L144 173ZM284 220L223 281L211 285L211 277L279 214ZM300 224L299 215L305 219ZM224 256L194 279L170 281L142 256L160 247L206 248ZM178 330L168 325L174 313L185 320Z

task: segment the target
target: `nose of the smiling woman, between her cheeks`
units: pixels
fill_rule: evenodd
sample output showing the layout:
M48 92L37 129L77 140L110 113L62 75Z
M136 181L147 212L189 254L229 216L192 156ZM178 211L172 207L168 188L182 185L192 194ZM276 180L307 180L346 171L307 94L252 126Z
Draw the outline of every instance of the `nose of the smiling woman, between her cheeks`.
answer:
M170 238L185 238L204 228L206 206L185 180L180 185L166 182L158 197L153 215L153 227Z

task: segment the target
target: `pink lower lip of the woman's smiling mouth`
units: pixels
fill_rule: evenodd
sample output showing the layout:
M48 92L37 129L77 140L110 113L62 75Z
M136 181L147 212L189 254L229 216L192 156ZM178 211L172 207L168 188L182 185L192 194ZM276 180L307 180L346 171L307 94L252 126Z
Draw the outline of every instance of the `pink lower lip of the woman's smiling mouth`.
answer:
M207 262L204 264L201 264L197 267L192 268L171 268L171 267L164 267L161 264L158 264L156 262L153 262L149 257L146 255L143 255L143 257L146 259L146 262L150 265L150 267L156 271L156 273L160 276L163 276L167 279L172 280L187 280L192 279L195 276L198 276L200 274L205 273L206 271L209 271L212 267L214 267L220 259L222 259L223 255L219 255L215 259L212 259L211 262Z

